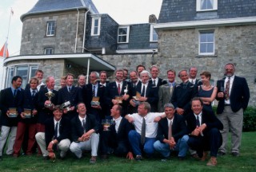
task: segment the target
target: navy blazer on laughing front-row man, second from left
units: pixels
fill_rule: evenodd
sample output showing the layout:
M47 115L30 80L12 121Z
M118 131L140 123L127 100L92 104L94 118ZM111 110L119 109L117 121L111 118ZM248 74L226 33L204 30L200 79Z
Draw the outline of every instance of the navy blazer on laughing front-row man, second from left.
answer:
M94 115L86 114L86 132L90 131L90 129L94 129L96 133L98 133L100 129L100 124L95 119ZM84 134L84 130L82 128L82 123L77 116L71 119L71 138L73 142L78 142L78 138Z

